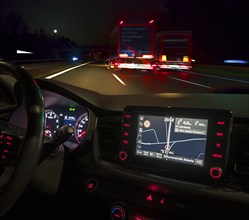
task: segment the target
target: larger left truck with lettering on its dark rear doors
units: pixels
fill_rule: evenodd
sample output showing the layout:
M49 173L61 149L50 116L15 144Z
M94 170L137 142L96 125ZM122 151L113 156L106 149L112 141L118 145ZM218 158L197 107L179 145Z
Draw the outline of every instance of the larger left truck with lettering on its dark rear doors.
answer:
M120 21L111 34L109 67L114 69L152 69L154 60L154 21Z

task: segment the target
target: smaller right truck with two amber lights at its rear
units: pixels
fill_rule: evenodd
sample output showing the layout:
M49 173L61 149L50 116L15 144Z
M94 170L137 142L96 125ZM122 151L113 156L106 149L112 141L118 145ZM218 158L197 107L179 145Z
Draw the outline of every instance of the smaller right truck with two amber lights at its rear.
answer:
M192 68L192 32L162 31L156 33L155 62L159 69Z

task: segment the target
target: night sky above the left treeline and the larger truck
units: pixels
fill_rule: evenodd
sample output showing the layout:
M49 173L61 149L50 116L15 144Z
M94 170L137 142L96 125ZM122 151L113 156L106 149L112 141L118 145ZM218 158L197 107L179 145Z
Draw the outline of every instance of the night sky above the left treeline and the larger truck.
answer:
M0 15L19 12L29 31L54 29L78 45L105 44L117 21L151 19L165 0L0 0Z

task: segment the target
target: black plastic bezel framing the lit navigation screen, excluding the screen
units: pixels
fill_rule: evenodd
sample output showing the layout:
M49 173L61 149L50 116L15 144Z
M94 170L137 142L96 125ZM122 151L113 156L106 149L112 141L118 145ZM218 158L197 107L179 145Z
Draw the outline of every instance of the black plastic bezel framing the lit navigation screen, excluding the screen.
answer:
M125 114L131 115L129 144L123 150L129 155L128 162L130 165L139 167L141 170L153 170L153 173L173 175L174 177L189 178L206 178L209 176L209 170L213 166L219 166L224 171L227 166L229 152L229 134L232 121L232 113L224 109L197 109L197 108L173 108L173 107L149 107L149 106L127 106L124 110ZM192 164L179 163L174 161L160 160L150 157L136 155L136 136L139 115L156 115L156 116L172 116L182 118L194 118L208 120L206 151L204 158L204 166L194 166ZM212 158L213 147L216 144L215 132L217 130L217 120L226 121L226 135L224 141L224 149L222 149L222 161L216 161ZM123 125L125 117L123 118Z

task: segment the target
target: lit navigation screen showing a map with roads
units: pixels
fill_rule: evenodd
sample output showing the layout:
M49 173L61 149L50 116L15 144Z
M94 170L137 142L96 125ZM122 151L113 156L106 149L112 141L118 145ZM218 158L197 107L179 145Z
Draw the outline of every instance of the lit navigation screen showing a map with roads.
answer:
M136 155L204 166L208 120L138 115Z

